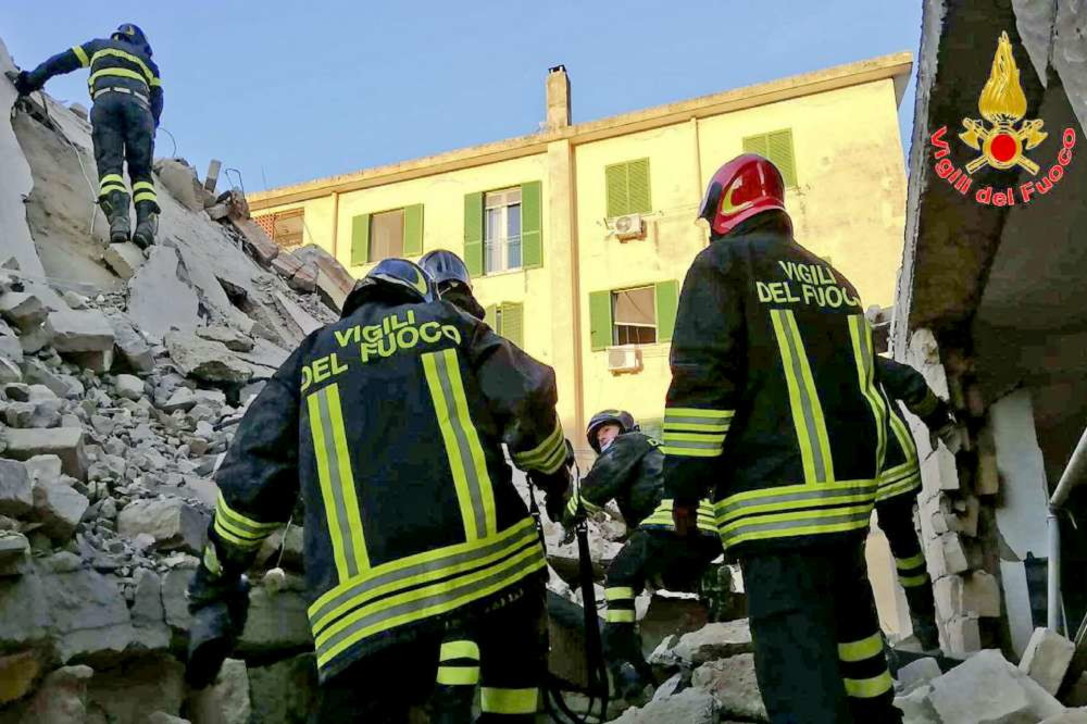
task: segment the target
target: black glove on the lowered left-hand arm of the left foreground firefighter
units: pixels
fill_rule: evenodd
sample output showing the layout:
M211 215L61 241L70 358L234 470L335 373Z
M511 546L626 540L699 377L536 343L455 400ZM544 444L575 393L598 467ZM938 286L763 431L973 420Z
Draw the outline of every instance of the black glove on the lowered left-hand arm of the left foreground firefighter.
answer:
M249 617L246 576L214 576L203 565L189 584L189 649L185 681L202 689L215 682L223 661L234 650Z

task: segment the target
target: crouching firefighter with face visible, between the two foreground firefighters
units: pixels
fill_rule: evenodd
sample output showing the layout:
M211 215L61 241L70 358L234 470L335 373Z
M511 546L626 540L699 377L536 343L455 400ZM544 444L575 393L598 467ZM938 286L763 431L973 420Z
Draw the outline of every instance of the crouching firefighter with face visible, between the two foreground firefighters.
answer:
M669 590L696 590L710 563L721 556L713 530L713 510L703 504L702 535L680 539L672 522L672 501L664 499L661 475L664 454L660 444L638 429L624 410L604 410L589 420L586 437L599 455L585 476L577 496L566 507L569 527L577 513L578 498L588 513L615 500L633 533L608 567L604 598L608 612L603 631L604 658L622 698L639 701L652 670L641 651L634 600L647 584Z

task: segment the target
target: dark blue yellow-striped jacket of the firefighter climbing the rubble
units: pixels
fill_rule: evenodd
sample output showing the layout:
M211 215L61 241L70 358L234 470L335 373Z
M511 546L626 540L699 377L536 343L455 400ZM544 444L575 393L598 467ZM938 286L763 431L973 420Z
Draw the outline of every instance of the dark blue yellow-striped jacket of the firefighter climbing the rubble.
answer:
M120 89L143 103L154 116L158 127L162 115L162 78L146 47L112 38L88 40L53 55L34 68L29 79L35 88L40 88L54 75L71 73L78 67L90 68L87 88L91 100Z

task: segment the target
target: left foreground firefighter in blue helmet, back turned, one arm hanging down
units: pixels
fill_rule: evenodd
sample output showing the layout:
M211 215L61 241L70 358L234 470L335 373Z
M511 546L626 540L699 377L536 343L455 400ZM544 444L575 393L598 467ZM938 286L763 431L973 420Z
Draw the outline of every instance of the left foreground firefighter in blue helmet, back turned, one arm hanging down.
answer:
M242 574L301 488L317 720L405 721L436 678L477 678L484 721L534 721L547 563L501 446L561 497L555 399L550 367L436 300L415 264L379 263L252 402L216 475L190 683L214 681Z

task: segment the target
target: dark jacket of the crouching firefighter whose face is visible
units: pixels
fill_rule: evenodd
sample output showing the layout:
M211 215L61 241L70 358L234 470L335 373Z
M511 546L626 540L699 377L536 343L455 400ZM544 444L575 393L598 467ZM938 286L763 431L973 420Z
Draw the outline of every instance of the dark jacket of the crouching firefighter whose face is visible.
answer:
M627 528L674 530L671 499L664 498L664 453L660 442L644 433L625 433L600 453L582 480L580 500L589 513L614 500ZM566 505L563 523L570 525L577 511L577 497ZM699 529L712 530L713 509L699 505Z

